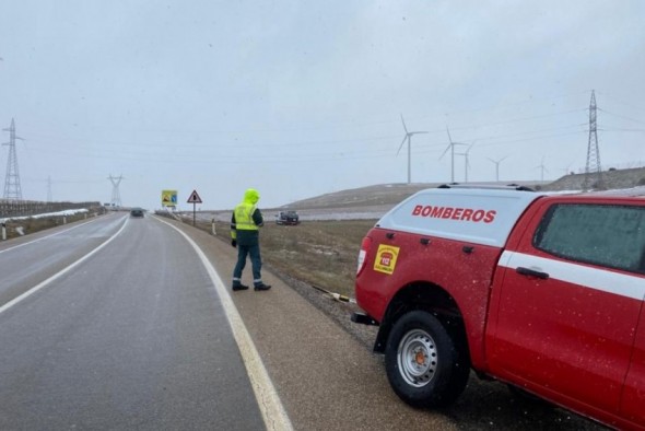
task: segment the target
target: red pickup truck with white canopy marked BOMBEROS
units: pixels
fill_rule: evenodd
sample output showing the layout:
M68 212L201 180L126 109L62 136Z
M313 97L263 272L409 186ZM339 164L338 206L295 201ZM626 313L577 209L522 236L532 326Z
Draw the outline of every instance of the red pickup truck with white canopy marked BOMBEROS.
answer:
M426 189L363 240L355 283L397 395L454 401L470 369L645 429L645 199Z

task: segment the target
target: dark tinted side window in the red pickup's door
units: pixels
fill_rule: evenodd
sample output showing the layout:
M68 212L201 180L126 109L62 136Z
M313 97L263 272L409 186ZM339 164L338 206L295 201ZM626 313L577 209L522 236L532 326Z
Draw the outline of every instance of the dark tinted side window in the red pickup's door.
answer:
M645 273L645 207L554 205L533 246L561 258Z

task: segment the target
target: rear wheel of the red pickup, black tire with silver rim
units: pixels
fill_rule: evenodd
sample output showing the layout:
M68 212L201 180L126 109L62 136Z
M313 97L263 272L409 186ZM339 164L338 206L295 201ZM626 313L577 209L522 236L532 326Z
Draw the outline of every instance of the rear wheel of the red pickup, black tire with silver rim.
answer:
M385 369L395 393L412 407L444 407L464 392L470 373L459 349L432 314L413 311L394 325L385 348Z

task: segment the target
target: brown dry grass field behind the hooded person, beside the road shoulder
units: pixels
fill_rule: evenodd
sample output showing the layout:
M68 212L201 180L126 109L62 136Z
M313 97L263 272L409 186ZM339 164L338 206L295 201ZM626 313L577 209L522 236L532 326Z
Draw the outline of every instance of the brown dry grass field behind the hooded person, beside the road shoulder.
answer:
M185 219L192 224L192 219ZM262 260L309 284L353 296L361 242L375 220L307 221L297 226L268 223L260 230ZM211 231L210 223L197 228ZM228 224L216 222L216 235L230 241Z

